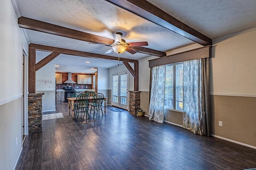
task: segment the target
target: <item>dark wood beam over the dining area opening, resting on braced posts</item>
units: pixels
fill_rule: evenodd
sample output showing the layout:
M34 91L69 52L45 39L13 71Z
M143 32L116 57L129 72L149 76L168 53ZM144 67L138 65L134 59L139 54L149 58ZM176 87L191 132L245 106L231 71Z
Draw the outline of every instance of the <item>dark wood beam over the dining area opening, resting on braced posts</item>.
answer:
M97 59L138 63L138 60L125 59L125 58L121 58L121 57L118 58L118 57L112 57L112 56L108 56L108 55L100 55L100 54L94 54L94 53L87 53L87 52L83 52L83 51L76 51L76 50L70 50L70 49L62 49L62 48L58 48L58 47L50 47L50 46L39 45L39 44L30 44L30 48L33 48L36 50L62 53L62 54L67 54L67 55L80 56L80 57L89 57L89 58L97 58Z

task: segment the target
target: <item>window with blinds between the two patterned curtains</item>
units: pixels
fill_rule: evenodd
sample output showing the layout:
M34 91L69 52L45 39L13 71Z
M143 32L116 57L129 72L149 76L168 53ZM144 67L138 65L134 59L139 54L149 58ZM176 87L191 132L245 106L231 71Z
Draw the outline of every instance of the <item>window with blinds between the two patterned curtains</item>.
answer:
M183 109L183 63L166 66L164 108Z

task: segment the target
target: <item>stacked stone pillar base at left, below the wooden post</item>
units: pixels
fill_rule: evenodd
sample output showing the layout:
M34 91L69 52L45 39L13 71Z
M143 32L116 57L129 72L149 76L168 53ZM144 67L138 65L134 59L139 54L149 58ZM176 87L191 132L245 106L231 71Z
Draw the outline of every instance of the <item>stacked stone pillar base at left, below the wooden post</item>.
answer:
M28 94L28 133L42 131L42 95Z

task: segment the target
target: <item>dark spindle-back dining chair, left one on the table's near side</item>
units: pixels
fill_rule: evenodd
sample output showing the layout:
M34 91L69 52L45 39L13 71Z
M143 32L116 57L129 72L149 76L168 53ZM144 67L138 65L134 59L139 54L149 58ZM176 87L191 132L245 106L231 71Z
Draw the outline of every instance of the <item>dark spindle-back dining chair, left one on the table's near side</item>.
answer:
M89 115L89 99L90 96L88 94L79 94L76 97L76 101L75 101L75 105L76 105L76 110L74 110L74 117L76 117L77 114L77 118L79 113L84 113L84 115L86 114L86 117L88 115L88 117L90 117Z

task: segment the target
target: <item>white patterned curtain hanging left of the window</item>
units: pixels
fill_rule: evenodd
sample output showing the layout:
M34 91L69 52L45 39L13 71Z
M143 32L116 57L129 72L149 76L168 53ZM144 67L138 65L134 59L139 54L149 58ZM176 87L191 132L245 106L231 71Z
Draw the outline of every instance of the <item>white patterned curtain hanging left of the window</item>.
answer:
M164 122L165 65L152 68L148 119Z

